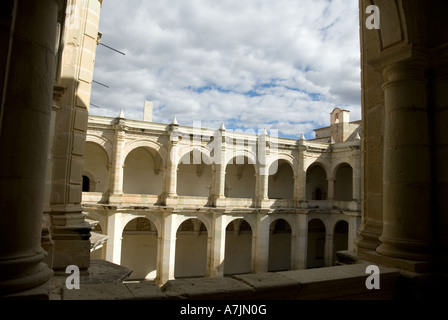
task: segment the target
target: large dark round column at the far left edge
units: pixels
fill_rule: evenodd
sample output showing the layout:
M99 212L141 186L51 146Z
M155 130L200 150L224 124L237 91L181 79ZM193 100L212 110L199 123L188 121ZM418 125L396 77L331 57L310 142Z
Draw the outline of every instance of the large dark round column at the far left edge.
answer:
M58 1L20 0L12 19L1 14L0 296L52 276L41 232L58 10Z

